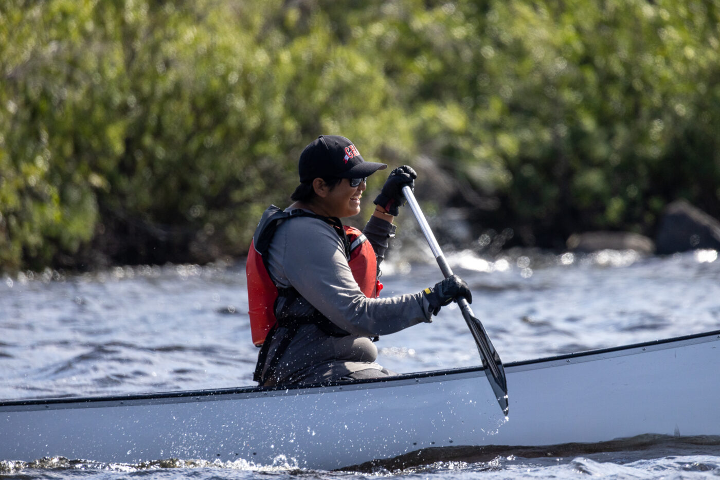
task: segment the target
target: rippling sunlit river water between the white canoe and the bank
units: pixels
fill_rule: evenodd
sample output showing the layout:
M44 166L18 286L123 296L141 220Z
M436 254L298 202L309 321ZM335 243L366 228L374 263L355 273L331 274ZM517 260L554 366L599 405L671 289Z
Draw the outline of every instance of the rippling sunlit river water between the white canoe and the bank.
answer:
M614 250L446 256L468 281L475 315L505 363L720 323L715 250L667 258ZM384 263L383 296L440 279L433 263L391 260ZM45 271L3 280L1 398L252 383L257 349L249 341L242 265L126 266L79 276ZM480 362L454 304L431 324L384 336L378 348L379 361L399 372Z

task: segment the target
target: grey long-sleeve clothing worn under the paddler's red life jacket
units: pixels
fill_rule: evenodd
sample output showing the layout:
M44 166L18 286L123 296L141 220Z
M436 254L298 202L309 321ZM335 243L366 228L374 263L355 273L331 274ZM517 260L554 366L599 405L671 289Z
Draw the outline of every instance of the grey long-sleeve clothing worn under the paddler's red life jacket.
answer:
M371 217L364 229L378 261L392 232L392 224L377 217ZM422 292L366 297L348 266L340 237L321 219L297 217L282 222L270 243L267 266L276 286L292 286L312 307L351 335L333 337L316 325L302 325L266 384L310 384L368 368L380 370L382 367L375 363L377 347L370 337L430 321ZM283 330L279 328L274 335L268 359L274 357Z

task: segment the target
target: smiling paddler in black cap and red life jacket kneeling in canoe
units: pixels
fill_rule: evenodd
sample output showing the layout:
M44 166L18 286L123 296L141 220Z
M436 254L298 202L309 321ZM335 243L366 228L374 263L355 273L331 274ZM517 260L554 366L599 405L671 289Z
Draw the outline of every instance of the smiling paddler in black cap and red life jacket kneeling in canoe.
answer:
M390 173L362 232L340 218L360 213L366 178L384 168L366 162L346 137L320 135L300 155L294 203L264 213L247 270L253 341L262 345L260 384L394 375L375 362L372 338L430 322L454 299L472 301L458 276L416 294L377 298L379 263L395 235L402 187L414 186L415 171L402 166Z

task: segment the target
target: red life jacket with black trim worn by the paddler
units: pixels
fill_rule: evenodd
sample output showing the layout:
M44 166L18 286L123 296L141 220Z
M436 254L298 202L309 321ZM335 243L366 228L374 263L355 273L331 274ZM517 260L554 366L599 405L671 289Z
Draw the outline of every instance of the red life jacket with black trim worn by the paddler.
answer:
M284 212L273 205L265 211L258 224L248 250L246 263L250 330L253 343L258 347L263 345L268 332L277 323L275 302L279 295L277 286L270 278L265 266L264 255L267 254L278 222L292 217L316 217L333 225L343 240L348 265L360 291L369 298L377 298L382 289L382 284L377 280L375 250L360 230L342 225L339 220L336 222L328 217L311 214L300 209Z

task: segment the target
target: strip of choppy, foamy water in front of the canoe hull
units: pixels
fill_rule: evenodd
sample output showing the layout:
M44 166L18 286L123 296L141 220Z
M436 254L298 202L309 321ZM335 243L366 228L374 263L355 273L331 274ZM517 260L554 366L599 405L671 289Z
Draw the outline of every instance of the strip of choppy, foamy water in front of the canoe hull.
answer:
M94 476L117 478L142 475L151 478L260 479L300 478L365 480L369 476L394 479L577 479L578 474L600 479L710 479L720 475L716 450L720 438L641 435L601 444L549 447L444 447L428 448L388 461L376 461L342 471L314 471L297 462L276 458L269 466L247 461L198 461L167 458L141 463L102 463L63 457L32 462L0 461L0 475L24 479ZM677 454L668 453L675 450Z

